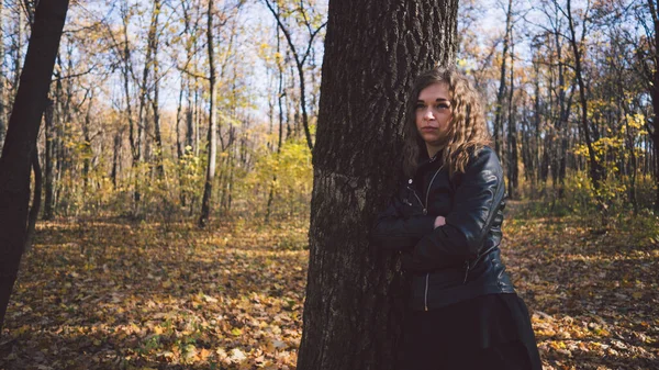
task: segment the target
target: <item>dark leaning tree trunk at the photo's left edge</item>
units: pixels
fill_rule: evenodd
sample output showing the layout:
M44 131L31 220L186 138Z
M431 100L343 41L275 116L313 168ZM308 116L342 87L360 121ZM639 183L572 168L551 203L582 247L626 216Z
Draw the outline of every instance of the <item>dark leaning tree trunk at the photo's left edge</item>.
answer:
M38 3L0 157L0 333L25 245L32 156L67 10L68 0Z

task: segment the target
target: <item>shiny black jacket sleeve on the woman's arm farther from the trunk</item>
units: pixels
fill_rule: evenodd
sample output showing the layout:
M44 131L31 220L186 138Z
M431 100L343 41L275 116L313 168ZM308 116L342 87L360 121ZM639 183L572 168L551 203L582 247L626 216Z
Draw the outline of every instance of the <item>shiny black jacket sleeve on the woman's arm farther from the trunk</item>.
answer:
M468 164L454 194L446 224L424 236L405 261L406 268L431 270L476 258L484 245L505 187L496 154L481 149Z

